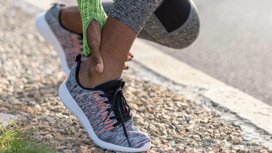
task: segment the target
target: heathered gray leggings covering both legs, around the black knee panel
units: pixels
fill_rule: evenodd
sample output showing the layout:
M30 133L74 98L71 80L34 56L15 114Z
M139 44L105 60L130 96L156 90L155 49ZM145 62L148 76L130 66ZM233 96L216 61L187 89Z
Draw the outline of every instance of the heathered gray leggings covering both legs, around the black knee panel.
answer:
M170 32L165 28L165 22L162 23L156 13L153 13L155 9L164 5L164 2L159 2L160 0L135 0L134 2L116 0L115 2L102 2L102 6L107 15L129 25L139 34L139 38L151 40L175 49L182 49L191 45L196 40L200 27L197 8L193 1L188 0L190 8L185 22ZM180 11L182 10L180 9ZM165 13L165 15L176 14ZM178 22L179 17L176 16L176 21L172 22ZM169 24L172 23L169 22Z

